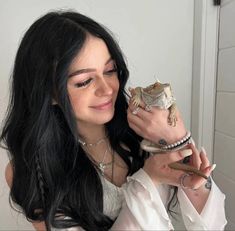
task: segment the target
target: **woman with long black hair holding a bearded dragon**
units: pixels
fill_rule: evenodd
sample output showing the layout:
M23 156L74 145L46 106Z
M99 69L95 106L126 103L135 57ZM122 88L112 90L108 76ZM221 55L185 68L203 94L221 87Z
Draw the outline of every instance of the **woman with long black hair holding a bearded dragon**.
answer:
M84 15L51 12L29 28L1 135L12 158L11 199L38 230L169 230L176 198L189 230L223 229L224 195L215 183L205 187L202 177L168 167L190 156L209 176L205 151L193 144L164 155L141 151L141 137L171 144L186 129L179 112L171 127L168 111L128 105L128 74L110 33Z

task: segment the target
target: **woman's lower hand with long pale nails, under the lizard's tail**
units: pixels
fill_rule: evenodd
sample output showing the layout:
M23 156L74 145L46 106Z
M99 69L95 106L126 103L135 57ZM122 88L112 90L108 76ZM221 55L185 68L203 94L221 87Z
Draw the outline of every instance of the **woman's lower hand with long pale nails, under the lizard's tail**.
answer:
M205 188L206 179L195 174L188 174L187 177L184 177L182 182L182 176L185 175L185 172L174 170L168 166L170 163L181 161L185 157L190 156L188 164L199 169L206 176L210 176L214 165L210 166L205 152L201 151L199 153L194 144L188 145L187 148L188 149L179 152L152 155L146 159L143 169L155 184L163 183L174 186L184 186L190 190L199 189L202 186L202 188Z

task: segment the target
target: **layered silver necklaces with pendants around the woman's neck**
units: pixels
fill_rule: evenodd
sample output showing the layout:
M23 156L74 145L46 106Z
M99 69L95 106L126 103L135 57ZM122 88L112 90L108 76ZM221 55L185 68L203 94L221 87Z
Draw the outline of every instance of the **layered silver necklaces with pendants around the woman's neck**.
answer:
M101 138L95 143L86 143L85 141L79 139L78 142L82 146L87 147L87 149L89 149L90 147L95 147L95 146L98 146L99 144L105 142L106 139L107 139L107 137ZM112 160L110 162L105 163L105 158L106 158L108 152L110 152L112 154ZM98 168L98 170L100 171L102 176L105 175L106 169L112 167L112 179L111 180L113 180L114 152L111 150L110 145L107 145L107 148L105 149L104 154L103 154L103 158L100 162L96 161L94 159L94 157L91 154L89 154L89 152L86 152L86 153L87 153L87 156L90 159L90 161Z

